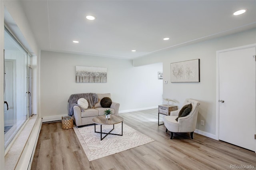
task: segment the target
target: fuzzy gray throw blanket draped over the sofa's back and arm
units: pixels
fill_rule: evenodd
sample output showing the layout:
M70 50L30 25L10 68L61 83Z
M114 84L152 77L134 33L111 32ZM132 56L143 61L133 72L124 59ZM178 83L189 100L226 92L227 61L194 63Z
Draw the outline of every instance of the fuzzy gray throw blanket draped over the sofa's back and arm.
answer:
M68 115L72 116L74 114L73 107L78 106L77 101L80 98L84 98L88 101L89 108L93 108L93 106L98 103L98 95L96 93L72 94L68 99Z

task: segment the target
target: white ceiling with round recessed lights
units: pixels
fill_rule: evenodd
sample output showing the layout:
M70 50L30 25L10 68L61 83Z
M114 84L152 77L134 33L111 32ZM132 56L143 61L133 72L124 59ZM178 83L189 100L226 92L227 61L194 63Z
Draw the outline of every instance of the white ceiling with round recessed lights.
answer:
M256 28L255 0L28 0L22 6L40 49L123 59Z

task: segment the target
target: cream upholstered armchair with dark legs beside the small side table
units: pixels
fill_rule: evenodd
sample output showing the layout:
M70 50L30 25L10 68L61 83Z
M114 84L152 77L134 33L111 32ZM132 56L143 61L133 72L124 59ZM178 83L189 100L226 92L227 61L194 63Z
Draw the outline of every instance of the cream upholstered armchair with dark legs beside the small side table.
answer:
M192 110L186 117L179 117L178 121L175 119L178 117L181 109L171 111L170 116L164 117L164 126L166 132L171 132L170 139L173 138L175 132L190 132L190 136L193 139L193 133L196 130L196 120L198 115L198 107L200 103L193 99L186 99L184 105L192 104Z

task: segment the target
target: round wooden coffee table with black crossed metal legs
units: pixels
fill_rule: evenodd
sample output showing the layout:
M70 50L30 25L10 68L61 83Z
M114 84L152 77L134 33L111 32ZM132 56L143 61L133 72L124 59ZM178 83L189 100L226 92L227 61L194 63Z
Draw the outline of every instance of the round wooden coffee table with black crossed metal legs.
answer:
M103 140L108 134L114 134L114 133L110 133L110 132L112 132L112 130L114 130L115 124L117 124L117 123L122 123L122 134L114 134L114 135L123 136L124 118L122 118L120 116L111 115L111 119L106 120L106 116L102 115L102 116L94 117L92 119L92 121L94 122L94 132L96 132L96 124L100 125L100 132L96 132L96 133L100 133L100 140ZM110 130L110 132L105 133L105 132L102 132L102 125L113 125L113 128L112 128L112 130ZM102 138L102 133L106 134L103 138Z

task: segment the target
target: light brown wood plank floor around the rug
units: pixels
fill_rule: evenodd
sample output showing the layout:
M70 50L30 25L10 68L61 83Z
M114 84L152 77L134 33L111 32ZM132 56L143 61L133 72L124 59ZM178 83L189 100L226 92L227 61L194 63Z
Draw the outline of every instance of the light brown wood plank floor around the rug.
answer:
M154 139L154 142L98 160L88 161L73 128L61 122L42 125L32 170L225 170L230 165L254 166L256 153L194 133L165 132L158 126L158 110L120 113L124 123ZM241 136L242 137L242 136ZM238 167L239 168L239 167Z

